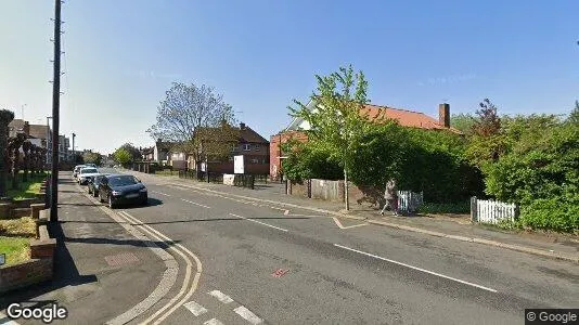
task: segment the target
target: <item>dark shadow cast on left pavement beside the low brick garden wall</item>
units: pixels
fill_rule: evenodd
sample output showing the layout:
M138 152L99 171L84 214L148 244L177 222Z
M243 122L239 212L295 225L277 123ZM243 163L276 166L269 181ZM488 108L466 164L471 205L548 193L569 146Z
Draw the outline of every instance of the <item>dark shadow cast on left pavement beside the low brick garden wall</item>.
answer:
M0 297L0 309L7 308L12 302L39 301L44 304L55 302L51 300L35 300L34 298L66 286L79 286L98 281L94 274L80 275L78 272L78 268L76 266L70 252L64 244L65 235L61 224L59 222L51 222L48 224L48 229L51 236L56 238L53 268L54 275L52 281L2 294L2 297Z

